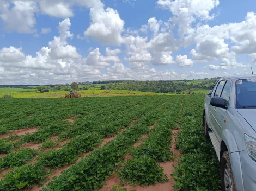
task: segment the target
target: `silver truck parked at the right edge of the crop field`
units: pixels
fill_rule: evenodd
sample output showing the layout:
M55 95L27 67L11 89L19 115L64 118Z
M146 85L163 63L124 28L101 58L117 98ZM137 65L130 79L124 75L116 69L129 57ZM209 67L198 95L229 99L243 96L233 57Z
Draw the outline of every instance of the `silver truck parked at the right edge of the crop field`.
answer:
M256 190L256 75L218 80L205 95L203 128L220 160L222 190Z

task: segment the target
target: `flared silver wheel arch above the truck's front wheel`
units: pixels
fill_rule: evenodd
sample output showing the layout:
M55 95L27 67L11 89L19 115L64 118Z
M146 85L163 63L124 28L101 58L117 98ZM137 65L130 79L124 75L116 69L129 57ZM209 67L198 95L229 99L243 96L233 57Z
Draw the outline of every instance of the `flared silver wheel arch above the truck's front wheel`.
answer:
M228 129L224 129L222 131L221 140L224 141L225 145L228 148L229 153L239 152L239 149L235 141L235 137Z

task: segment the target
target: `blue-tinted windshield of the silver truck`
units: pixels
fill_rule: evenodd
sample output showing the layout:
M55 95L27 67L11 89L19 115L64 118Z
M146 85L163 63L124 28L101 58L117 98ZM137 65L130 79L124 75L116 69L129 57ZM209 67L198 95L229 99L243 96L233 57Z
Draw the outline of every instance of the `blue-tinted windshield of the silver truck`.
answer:
M256 108L256 79L236 81L236 108Z

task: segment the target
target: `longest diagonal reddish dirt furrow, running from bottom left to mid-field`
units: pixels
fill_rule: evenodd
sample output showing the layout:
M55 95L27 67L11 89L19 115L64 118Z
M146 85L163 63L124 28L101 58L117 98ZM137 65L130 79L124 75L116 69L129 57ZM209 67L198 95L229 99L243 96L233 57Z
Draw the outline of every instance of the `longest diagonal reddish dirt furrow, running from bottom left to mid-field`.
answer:
M132 125L135 124L135 122L137 122L138 120L140 120L141 118L138 118L138 119L133 119L132 122L127 126L127 128L131 127ZM100 147L103 147L105 144L107 144L108 142L110 141L113 141L121 132L125 131L127 128L123 128L121 129L121 131L114 137L106 137L102 140L102 143L97 146L94 150L100 148ZM91 151L92 152L92 151ZM36 190L41 190L43 189L48 183L50 183L52 180L53 180L53 177L57 177L57 176L60 176L62 171L65 171L67 169L69 169L70 167L72 167L72 165L80 162L82 160L83 157L89 155L90 152L84 152L83 154L80 154L78 155L78 159L75 161L75 163L72 163L72 164L69 164L69 165L66 165L64 167L61 167L61 168L58 168L56 170L54 170L54 173L51 174L50 176L48 176L48 181L45 182L41 187L38 187L38 185L35 185L35 186L32 186L31 188L29 188L28 190L31 190L31 191L36 191Z

